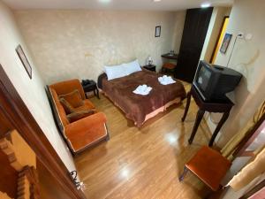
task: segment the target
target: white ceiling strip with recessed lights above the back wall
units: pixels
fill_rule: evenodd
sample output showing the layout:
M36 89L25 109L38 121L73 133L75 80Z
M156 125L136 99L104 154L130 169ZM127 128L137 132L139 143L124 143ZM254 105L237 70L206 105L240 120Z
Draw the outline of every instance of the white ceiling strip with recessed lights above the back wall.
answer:
M198 8L201 3L229 6L233 0L3 0L11 9L91 9L91 10L146 10L178 11Z

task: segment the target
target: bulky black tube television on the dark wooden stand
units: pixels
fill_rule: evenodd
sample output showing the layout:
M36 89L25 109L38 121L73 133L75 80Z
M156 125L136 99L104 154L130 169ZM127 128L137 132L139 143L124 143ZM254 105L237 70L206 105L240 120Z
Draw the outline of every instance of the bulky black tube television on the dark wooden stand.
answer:
M238 86L241 78L242 74L231 68L200 61L193 85L205 101L223 99Z

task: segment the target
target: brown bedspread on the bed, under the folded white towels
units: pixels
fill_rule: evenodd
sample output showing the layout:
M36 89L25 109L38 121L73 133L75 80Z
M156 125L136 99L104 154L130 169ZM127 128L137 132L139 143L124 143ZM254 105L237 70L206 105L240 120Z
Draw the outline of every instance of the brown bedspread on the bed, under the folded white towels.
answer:
M104 76L100 83L106 96L125 112L126 118L133 119L137 126L141 126L148 113L178 97L181 99L186 97L186 90L180 81L176 80L174 84L162 85L157 80L159 76L162 74L143 69L143 71L115 80L107 80ZM142 84L153 88L148 96L133 93L133 90Z

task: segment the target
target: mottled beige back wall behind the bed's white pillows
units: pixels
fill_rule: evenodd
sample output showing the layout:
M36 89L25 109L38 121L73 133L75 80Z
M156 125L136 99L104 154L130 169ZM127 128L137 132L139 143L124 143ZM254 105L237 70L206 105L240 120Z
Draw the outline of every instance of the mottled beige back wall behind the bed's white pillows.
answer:
M15 11L19 27L46 83L97 79L103 65L148 55L159 67L161 54L178 47L185 11ZM162 26L155 38L155 26ZM177 32L175 32L177 31ZM177 44L176 44L177 42Z

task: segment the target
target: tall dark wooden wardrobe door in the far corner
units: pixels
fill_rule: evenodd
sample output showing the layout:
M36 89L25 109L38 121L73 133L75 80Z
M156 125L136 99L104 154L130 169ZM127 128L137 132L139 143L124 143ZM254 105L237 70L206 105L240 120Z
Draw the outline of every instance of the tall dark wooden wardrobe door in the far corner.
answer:
M186 21L178 54L178 65L175 71L175 77L179 80L193 81L212 11L212 7L186 11Z

